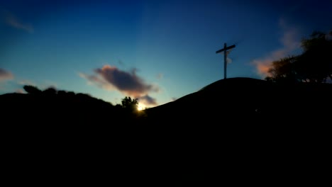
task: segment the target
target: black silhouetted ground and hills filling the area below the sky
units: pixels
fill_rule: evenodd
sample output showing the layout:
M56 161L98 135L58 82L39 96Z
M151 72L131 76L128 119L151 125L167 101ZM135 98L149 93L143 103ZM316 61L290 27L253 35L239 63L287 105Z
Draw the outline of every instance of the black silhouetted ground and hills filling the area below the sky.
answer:
M317 186L331 164L331 86L220 80L140 115L83 95L4 94L5 177L46 185Z

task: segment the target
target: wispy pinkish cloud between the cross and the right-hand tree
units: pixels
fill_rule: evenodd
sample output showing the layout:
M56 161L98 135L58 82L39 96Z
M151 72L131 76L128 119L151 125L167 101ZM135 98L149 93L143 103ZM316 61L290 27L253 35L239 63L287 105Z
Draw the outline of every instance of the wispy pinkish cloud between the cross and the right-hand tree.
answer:
M280 19L280 27L283 31L282 38L280 38L280 42L283 46L280 49L270 52L264 57L253 60L252 62L252 64L254 64L258 70L258 74L260 74L262 77L269 75L267 71L270 69L273 61L280 60L283 57L291 55L292 52L298 50L301 46L300 40L298 38L299 31L297 28L287 26L283 19Z

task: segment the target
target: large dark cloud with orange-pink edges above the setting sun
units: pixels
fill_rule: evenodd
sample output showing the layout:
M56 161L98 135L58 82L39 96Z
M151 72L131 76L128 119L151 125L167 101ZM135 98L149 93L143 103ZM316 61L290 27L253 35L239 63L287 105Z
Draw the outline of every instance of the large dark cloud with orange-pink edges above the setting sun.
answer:
M147 84L138 77L136 69L131 72L122 71L117 67L104 65L104 67L94 70L93 75L79 73L79 76L87 79L88 84L96 84L101 89L116 89L126 96L133 98L143 97L150 92L158 92L158 86Z

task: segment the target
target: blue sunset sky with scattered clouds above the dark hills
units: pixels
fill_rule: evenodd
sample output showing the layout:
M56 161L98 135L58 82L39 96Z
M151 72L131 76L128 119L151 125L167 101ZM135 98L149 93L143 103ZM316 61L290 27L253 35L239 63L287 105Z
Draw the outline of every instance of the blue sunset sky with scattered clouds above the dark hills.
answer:
M0 0L0 94L39 89L114 105L175 101L227 78L264 79L301 39L332 30L332 1Z

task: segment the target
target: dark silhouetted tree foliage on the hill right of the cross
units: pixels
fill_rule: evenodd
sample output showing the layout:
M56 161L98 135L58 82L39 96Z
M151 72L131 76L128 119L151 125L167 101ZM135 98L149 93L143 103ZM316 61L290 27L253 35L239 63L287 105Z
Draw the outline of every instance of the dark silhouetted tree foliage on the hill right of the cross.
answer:
M267 81L326 82L332 80L332 32L313 32L301 40L301 55L272 62Z

